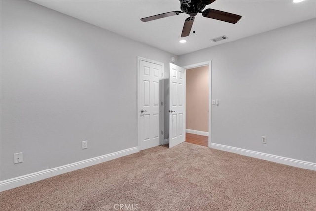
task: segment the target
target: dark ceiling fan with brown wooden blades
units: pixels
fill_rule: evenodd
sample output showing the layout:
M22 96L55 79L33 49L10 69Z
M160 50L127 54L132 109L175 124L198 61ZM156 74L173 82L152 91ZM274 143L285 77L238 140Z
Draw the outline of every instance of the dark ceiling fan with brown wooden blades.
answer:
M215 0L179 0L180 1L180 9L181 11L173 11L173 12L166 12L158 15L149 16L146 18L141 18L140 20L143 22L152 21L160 18L170 17L174 15L179 15L180 13L187 13L190 15L185 21L182 29L181 37L186 37L190 34L194 16L197 15L197 13L202 13L202 15L206 18L213 18L220 21L225 21L228 23L237 23L241 16L219 11L216 9L205 9L202 11L206 5L213 3Z

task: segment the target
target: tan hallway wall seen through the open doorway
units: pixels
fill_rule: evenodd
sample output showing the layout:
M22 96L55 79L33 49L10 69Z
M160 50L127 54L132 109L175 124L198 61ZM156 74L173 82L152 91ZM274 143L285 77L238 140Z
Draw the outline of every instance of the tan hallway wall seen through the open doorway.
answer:
M208 66L186 70L186 129L208 132Z

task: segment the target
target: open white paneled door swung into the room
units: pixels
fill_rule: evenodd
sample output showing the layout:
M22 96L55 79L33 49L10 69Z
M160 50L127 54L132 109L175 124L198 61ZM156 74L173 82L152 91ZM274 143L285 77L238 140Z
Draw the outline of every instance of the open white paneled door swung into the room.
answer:
M185 69L169 63L169 147L185 141Z

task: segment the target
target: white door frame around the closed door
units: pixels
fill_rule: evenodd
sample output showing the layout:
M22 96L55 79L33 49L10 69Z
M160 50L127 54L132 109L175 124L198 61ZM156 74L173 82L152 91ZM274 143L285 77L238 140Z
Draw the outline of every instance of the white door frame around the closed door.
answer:
M161 65L161 67L162 67L162 70L161 70L162 76L159 80L160 97L161 97L161 102L163 104L163 105L160 105L161 112L159 114L159 116L160 116L160 118L159 118L160 124L159 125L160 125L161 131L162 131L162 134L160 134L160 132L159 132L160 145L162 145L163 136L164 136L164 106L165 106L164 105L164 80L163 80L164 63L137 56L137 106L136 106L137 110L136 110L136 115L137 115L137 148L138 148L138 151L140 151L140 115L139 115L139 112L140 112L140 60L146 61L146 62L151 62L154 64L158 64L158 65Z

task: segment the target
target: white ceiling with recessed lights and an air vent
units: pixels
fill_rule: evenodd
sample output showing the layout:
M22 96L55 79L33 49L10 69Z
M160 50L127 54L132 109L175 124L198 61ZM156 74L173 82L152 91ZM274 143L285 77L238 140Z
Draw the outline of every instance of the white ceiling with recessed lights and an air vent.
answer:
M241 15L236 24L204 18L197 14L195 31L179 43L184 20L177 16L142 22L140 18L180 10L179 0L41 0L40 5L152 45L176 55L231 42L251 35L316 18L316 1L293 3L292 0L217 0L207 5ZM212 38L226 35L229 39L214 43Z

